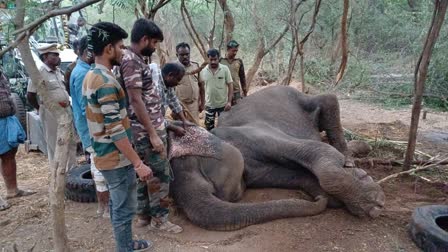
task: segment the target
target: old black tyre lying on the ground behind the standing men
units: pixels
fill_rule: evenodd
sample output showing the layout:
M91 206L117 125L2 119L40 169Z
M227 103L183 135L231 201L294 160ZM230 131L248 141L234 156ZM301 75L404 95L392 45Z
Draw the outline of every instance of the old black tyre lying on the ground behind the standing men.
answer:
M66 176L65 198L76 202L96 202L95 182L90 165L73 167Z

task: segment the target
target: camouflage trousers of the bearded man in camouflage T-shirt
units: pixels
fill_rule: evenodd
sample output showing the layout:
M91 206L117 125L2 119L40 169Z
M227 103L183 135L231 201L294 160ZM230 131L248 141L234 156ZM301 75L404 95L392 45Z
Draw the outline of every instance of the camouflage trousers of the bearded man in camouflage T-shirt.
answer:
M158 132L158 134L167 148L166 130ZM137 214L167 218L171 202L168 198L172 178L170 163L168 159L162 159L160 154L152 149L149 138L137 141L135 150L153 172L153 177L150 180L137 180Z

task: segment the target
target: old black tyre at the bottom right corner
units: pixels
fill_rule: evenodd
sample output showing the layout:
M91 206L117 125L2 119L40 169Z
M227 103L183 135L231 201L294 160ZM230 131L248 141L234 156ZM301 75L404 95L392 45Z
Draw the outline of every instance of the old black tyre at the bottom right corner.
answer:
M448 205L416 208L410 234L423 251L448 251Z

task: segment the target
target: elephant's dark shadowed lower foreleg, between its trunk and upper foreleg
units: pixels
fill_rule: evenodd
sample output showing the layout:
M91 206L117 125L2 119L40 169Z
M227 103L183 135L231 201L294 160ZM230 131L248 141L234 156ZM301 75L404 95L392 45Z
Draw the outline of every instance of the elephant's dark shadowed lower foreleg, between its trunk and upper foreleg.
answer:
M259 165L262 166L266 164L260 163ZM257 176L257 178L252 179L250 178L250 173L247 174L247 187L300 189L311 195L313 198L318 196L328 198L328 207L339 208L343 206L341 201L322 190L316 176L308 170L292 170L274 164L270 164L269 166L269 168L263 169L266 172L262 174L262 176Z

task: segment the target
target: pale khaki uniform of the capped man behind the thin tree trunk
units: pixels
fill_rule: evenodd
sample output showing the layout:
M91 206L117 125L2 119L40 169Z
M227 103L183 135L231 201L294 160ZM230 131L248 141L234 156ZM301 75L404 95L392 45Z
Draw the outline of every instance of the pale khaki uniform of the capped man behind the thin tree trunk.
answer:
M59 68L52 70L44 64L39 71L46 82L46 92L53 99L51 102L56 104L58 102L66 102L69 104L69 96L65 89L64 76L62 75L61 70ZM37 93L37 88L32 82L28 83L27 90L30 93ZM54 152L56 150L58 123L56 117L47 109L48 104L44 104L42 101L40 101L40 103L39 116L44 129L45 141L47 142L48 160L51 162L54 159ZM65 109L70 109L70 107L66 107ZM74 141L71 141L69 144L67 165L68 168L76 165L76 144Z

